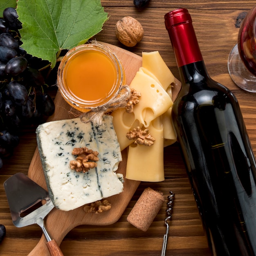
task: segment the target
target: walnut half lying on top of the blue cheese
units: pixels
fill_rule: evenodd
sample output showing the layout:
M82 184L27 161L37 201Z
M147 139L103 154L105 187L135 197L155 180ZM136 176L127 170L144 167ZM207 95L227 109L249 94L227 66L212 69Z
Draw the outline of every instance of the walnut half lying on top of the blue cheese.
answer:
M97 167L97 161L99 161L99 152L84 148L74 148L72 155L77 155L76 161L70 161L70 168L77 172L83 171L86 173L90 168Z

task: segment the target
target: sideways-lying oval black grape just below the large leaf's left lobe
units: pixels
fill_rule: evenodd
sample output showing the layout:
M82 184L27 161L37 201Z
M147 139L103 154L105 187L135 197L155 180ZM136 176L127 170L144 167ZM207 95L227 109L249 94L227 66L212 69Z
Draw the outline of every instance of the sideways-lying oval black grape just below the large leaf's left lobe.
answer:
M27 59L24 57L15 57L9 60L5 66L5 72L11 76L18 76L27 68Z

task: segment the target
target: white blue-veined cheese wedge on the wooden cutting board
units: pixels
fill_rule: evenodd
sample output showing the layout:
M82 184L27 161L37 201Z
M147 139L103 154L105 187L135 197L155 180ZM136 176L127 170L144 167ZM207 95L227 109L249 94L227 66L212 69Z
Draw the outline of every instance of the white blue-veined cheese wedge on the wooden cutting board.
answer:
M36 130L38 150L54 206L70 211L84 204L119 194L123 175L116 173L122 160L112 116L104 115L101 126L80 118L51 121ZM74 148L87 147L99 152L97 167L88 172L70 168Z

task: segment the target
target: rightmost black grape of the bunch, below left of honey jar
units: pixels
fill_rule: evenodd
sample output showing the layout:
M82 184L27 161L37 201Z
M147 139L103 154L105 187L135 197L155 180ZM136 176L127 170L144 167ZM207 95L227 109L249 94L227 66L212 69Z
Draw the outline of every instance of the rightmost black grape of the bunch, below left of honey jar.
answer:
M54 101L47 93L36 95L36 106L38 111L46 116L51 116L55 110Z

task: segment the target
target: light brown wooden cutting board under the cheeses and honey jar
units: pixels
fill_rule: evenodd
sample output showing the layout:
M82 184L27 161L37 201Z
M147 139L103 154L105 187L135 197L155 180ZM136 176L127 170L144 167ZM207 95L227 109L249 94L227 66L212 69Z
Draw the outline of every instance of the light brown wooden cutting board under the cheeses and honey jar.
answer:
M106 43L102 44L106 45L117 54L125 70L126 83L129 85L136 72L139 70L139 67L142 65L142 58L114 45L109 45ZM180 90L180 82L176 82L177 86L175 86L173 90L174 99L177 96L177 92ZM64 101L59 92L56 94L55 106L55 113L49 117L48 121L70 119L76 117L75 115L79 114ZM127 160L126 150L122 151L122 157L123 161L120 162L117 173L122 173L124 175L124 191L119 195L114 195L108 198L108 201L112 204L110 211L106 211L100 214L85 213L85 211L83 211L83 207L79 207L72 211L60 211L58 209L53 209L47 215L45 218L45 226L48 229L52 239L55 239L58 245L61 244L61 241L66 236L66 234L76 226L110 225L119 220L140 184L139 181L125 179ZM29 166L28 176L44 189L47 189L38 148L36 149L34 157ZM29 255L50 256L44 236L41 237L40 241Z

